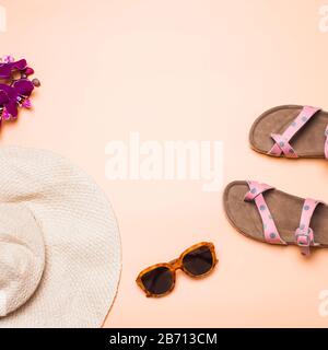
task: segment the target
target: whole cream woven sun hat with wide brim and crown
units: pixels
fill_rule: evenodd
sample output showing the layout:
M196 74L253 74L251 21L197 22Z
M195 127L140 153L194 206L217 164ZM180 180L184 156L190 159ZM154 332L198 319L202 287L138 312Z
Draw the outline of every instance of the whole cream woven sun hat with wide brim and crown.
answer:
M120 276L104 194L48 151L0 149L0 327L99 327Z

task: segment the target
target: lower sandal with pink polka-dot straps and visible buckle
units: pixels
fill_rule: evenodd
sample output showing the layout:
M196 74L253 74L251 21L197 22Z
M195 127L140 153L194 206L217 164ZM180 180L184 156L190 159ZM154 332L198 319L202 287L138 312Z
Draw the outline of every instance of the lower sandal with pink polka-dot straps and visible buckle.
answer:
M232 225L247 237L279 245L328 247L328 206L257 182L233 182L224 190L224 209Z

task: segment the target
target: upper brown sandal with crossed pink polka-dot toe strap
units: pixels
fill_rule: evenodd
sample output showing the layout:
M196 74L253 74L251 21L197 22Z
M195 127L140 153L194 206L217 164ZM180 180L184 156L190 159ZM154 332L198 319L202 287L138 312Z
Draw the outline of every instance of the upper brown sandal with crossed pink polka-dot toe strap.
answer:
M256 119L249 142L272 156L328 159L328 113L311 106L274 107Z

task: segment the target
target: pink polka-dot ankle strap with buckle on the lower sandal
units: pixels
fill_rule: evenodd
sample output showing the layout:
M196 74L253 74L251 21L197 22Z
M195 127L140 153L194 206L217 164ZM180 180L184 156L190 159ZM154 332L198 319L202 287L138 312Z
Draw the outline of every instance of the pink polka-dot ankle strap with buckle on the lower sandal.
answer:
M295 232L296 243L301 247L301 253L305 256L309 255L311 246L318 245L314 242L314 232L309 228L311 219L318 205L318 200L311 198L305 199L302 209L300 228Z

